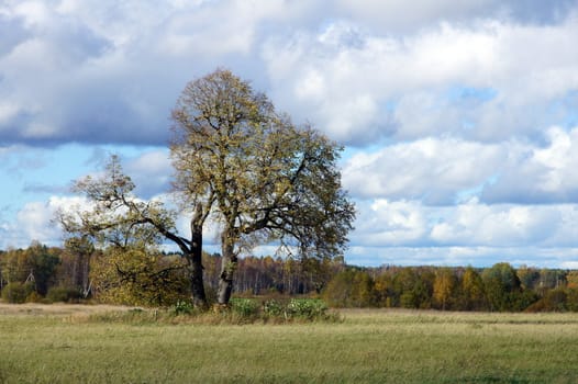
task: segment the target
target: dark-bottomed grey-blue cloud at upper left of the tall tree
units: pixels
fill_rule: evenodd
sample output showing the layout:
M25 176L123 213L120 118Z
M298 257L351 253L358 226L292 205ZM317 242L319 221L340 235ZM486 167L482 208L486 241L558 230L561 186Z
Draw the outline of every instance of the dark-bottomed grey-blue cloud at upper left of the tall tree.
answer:
M224 63L258 75L254 45L302 9L310 7L9 3L0 25L18 36L0 49L0 98L10 100L0 104L0 143L164 145L188 80Z

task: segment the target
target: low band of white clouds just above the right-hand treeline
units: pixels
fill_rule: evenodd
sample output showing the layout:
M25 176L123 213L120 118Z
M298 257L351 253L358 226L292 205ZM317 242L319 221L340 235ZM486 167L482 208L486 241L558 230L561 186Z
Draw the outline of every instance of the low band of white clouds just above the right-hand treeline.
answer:
M346 260L359 264L491 266L567 268L578 257L578 207L455 206L418 201L360 203ZM565 267L566 266L566 267Z

